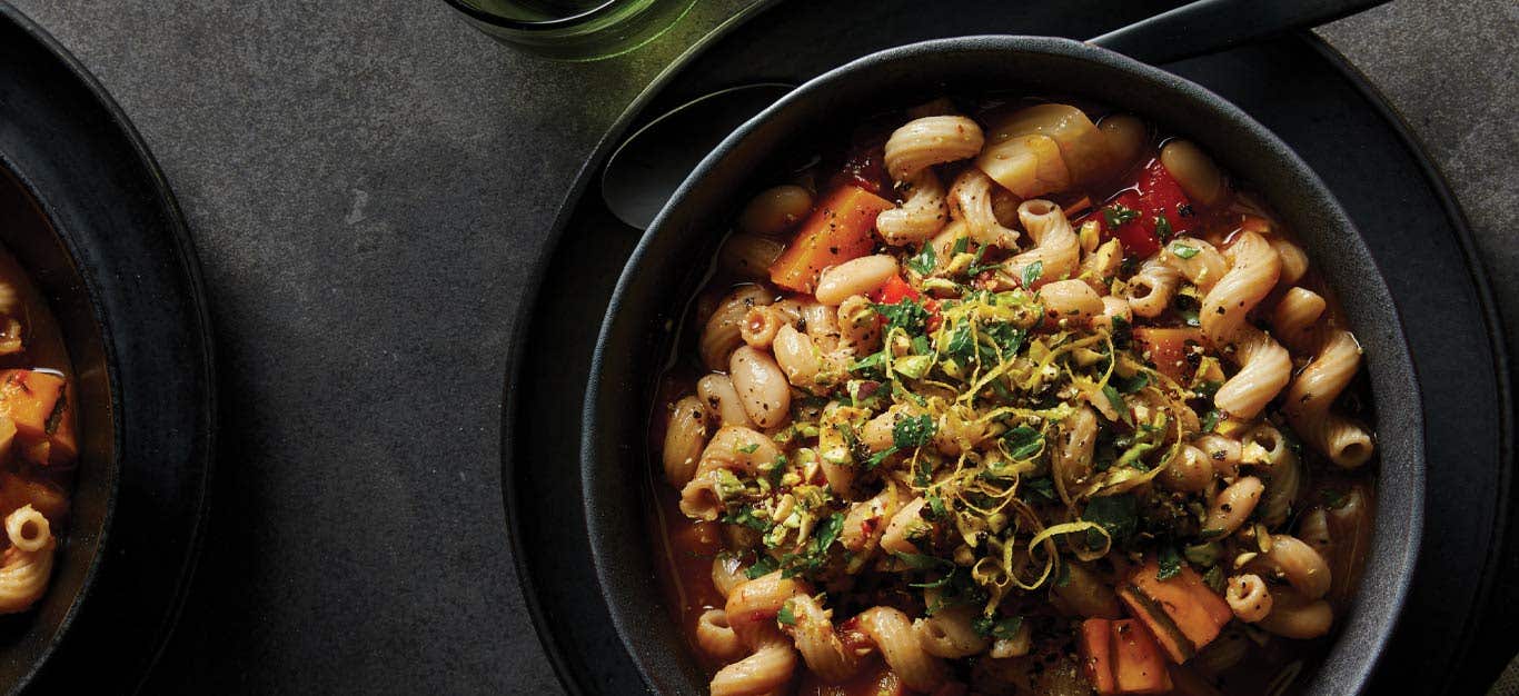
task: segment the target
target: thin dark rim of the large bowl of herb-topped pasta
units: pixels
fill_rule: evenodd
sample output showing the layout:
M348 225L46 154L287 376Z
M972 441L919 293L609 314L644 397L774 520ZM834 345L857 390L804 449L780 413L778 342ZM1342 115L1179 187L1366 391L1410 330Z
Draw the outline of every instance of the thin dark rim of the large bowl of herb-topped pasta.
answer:
M653 223L650 223L649 229L639 240L638 246L633 249L632 255L627 260L627 264L624 266L621 275L618 277L617 287L614 289L611 302L608 304L608 312L606 316L603 318L602 330L597 337L595 351L591 359L589 380L586 384L586 395L582 409L582 424L583 424L582 441L580 441L582 505L585 506L585 518L591 541L591 556L595 565L597 579L600 581L600 590L603 599L606 600L606 605L609 608L614 628L617 629L624 647L627 647L627 652L632 656L646 684L650 685L658 684L662 679L659 679L658 673L652 669L652 664L646 658L644 650L638 649L643 643L639 638L636 638L641 634L641 631L636 631L639 626L629 625L629 618L624 615L626 614L624 602L621 602L620 600L621 597L618 596L620 594L618 588L623 584L621 581L626 579L623 576L614 574L612 568L614 561L609 558L611 550L606 549L605 543L597 533L598 520L602 517L595 511L598 500L595 488L597 488L597 480L600 479L597 468L597 462L600 459L598 457L600 439L592 433L602 432L598 424L606 419L598 412L597 406L600 401L602 386L606 374L605 363L606 363L606 346L609 342L609 334L618 324L618 315L621 310L623 299L629 292L629 286L635 283L635 277L638 275L638 269L643 266L644 258L649 254L652 240L664 228L665 220L671 217L673 210L677 208L688 196L688 193L699 185L700 179L703 179L712 169L715 169L717 163L722 161L729 150L732 150L738 143L744 141L749 135L758 131L775 114L787 108L791 108L791 105L799 100L808 99L814 91L826 90L834 82L848 78L854 71L867 70L876 64L902 61L902 59L910 59L913 56L925 53L937 53L937 52L952 53L952 52L995 52L995 50L1003 50L1010 53L1015 52L1047 53L1062 58L1072 58L1077 61L1095 62L1107 68L1127 71L1130 74L1135 74L1147 81L1148 84L1157 85L1171 93L1188 97L1198 106L1209 111L1211 117L1220 119L1220 122L1229 122L1235 126L1243 128L1244 131L1247 131L1250 137L1267 144L1273 153L1281 157L1282 164L1287 164L1293 170L1296 178L1308 184L1308 187L1318 196L1318 201L1315 201L1315 204L1318 204L1318 207L1322 207L1325 213L1329 213L1332 222L1331 226L1337 229L1352 231L1353 234L1347 236L1347 242L1353 245L1358 249L1360 255L1366 258L1369 263L1372 263L1372 266L1375 267L1375 260L1372 260L1370 252L1366 249L1364 240L1361 239L1355 225L1350 222L1349 216L1344 213L1343 207L1338 204L1334 195L1328 190L1323 181L1320 181L1318 176L1308 167L1308 164L1296 152L1293 152L1293 149L1288 147L1281 138L1271 134L1265 126L1258 123L1255 119L1241 111L1238 106L1233 106L1230 102L1203 88L1202 85L1197 85L1191 81L1186 81L1165 70L1142 64L1139 61L1130 59L1127 56L1123 56L1120 53L1092 44L1066 38L1019 36L1019 35L978 35L978 36L940 38L940 40L921 41L873 52L807 81L799 88L796 88L794 91L778 100L775 105L769 106L767 109L764 109L763 112L746 122L743 126L735 129L728 138L725 138L722 144L718 144L708 157L702 160L702 163L691 172L691 175L685 179L685 182L682 182L682 185L676 190L670 202L661 210L659 216L655 217ZM1373 274L1373 277L1366 278L1364 281L1378 286L1381 289L1379 296L1390 298L1390 293L1387 292L1385 281L1381 272ZM1407 403L1401 403L1399 410L1402 410L1405 421L1422 426L1423 412L1422 412L1422 404L1417 398L1419 397L1417 372L1416 366L1413 365L1411 356L1408 354L1408 345L1405 339L1407 334L1404 331L1402 318L1399 316L1397 307L1394 304L1391 304L1390 301L1387 304L1388 304L1387 319L1390 325L1384 328L1391 330L1396 336L1396 340L1393 340L1390 346L1385 346L1391 348L1393 353L1388 357L1397 366L1404 368L1407 374L1414 377L1413 384L1410 384L1411 392L1408 394L1408 397L1411 398L1408 398ZM626 413L623 415L626 416ZM1382 415L1382 421L1384 422L1390 421L1388 413ZM1356 691L1366 687L1367 679L1370 678L1372 672L1376 669L1378 661L1385 652L1387 640L1391 635L1391 629L1396 626L1402 614L1402 606L1407 600L1408 588L1413 579L1413 567L1419 558L1422 521L1423 521L1423 495L1425 495L1423 471L1426 467L1423 432L1422 427L1416 427L1407 433L1401 433L1401 436L1407 438L1407 453L1404 454L1407 457L1411 457L1411 460L1408 462L1410 468L1408 476L1401 477L1397 480L1399 488L1402 488L1407 495L1405 501L1407 508L1397 509L1397 512L1402 512L1404 515L1402 520L1407 529L1404 530L1404 536L1401 538L1401 541L1382 539L1384 535L1379 530L1385 529L1387 526L1384 520L1387 518L1388 508L1382 505L1384 503L1382 494L1379 494L1376 506L1378 523L1376 529L1373 530L1375 535L1373 549L1379 552L1381 558L1390 559L1388 562L1391 564L1391 567L1401 570L1401 573L1397 573L1388 582L1384 582L1382 591L1378 593L1385 597L1385 600L1381 603L1387 606L1387 612L1384 617L1378 620L1378 625L1373 626L1378 629L1375 632L1376 635L1375 643L1370 646L1361 644L1363 647L1360 652L1361 656L1346 666L1346 669L1349 670L1347 675L1340 675L1343 676L1340 682L1353 685ZM639 444L639 450L643 444ZM1385 489L1385 486L1379 486L1379 491L1381 489ZM1379 546L1382 546L1379 544L1379 541L1385 543L1388 549L1378 549ZM1370 582L1373 582L1370 573L1367 573L1367 576L1363 576L1363 593L1367 591ZM1352 612L1352 618L1353 617L1355 612ZM1331 647L1331 658L1335 653L1338 653L1341 646L1343 641L1337 640L1335 646Z

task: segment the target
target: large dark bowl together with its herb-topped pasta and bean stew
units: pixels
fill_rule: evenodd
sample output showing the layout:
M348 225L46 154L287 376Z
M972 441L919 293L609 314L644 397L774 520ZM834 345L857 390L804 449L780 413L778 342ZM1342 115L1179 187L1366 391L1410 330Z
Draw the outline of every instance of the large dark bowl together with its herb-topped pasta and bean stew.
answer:
M621 278L583 459L614 618L682 693L1270 693L1246 652L1376 646L1396 615L1422 485L1397 334L1322 185L1195 85L1056 40L861 59L731 137ZM1381 439L1335 403L1356 336ZM620 419L650 403L644 459ZM1338 473L1373 451L1375 508ZM624 577L655 567L674 593ZM1279 679L1341 693L1373 661Z

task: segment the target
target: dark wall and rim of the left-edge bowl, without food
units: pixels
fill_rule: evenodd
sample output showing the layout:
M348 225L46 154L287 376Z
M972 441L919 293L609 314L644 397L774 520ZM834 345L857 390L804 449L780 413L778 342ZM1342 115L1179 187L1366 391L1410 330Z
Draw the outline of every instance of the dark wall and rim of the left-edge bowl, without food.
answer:
M47 299L79 384L79 463L52 585L32 611L0 617L0 690L23 685L90 587L115 494L115 409L96 305L38 198L0 161L0 245Z

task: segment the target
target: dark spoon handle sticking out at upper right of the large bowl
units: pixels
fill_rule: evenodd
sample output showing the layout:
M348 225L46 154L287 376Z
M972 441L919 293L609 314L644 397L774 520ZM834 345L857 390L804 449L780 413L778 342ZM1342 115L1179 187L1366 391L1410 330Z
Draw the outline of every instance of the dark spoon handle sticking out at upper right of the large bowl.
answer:
M1273 33L1325 24L1385 2L1197 0L1088 43L1161 65L1217 53Z

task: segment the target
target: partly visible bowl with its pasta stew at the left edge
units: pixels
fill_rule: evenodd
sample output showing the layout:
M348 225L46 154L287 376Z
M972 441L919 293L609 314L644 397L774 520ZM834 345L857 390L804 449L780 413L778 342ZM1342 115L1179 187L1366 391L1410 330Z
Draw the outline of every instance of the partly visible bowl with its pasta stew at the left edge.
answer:
M0 688L30 679L87 594L117 486L100 324L33 191L0 167Z

